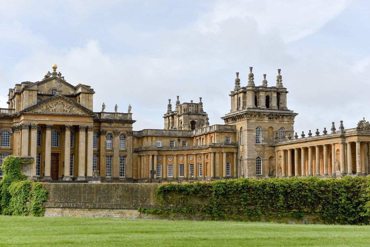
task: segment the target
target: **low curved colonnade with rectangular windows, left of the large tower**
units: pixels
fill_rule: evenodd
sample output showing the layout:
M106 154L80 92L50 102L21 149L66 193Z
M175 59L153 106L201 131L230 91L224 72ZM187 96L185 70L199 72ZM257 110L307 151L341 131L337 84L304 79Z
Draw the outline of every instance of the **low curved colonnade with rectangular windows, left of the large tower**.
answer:
M188 179L188 178L199 178L205 179L206 177L215 178L215 177L237 177L237 153L233 152L233 158L228 161L227 154L230 152L227 151L209 151L201 153L191 153L191 154L139 154L138 155L138 166L137 174L138 179L149 179L150 170L157 171L157 164L161 164L161 176L158 174L153 175L154 179ZM208 159L206 155L208 154ZM158 160L158 156L161 157ZM221 157L222 156L222 157ZM168 157L172 157L172 160L168 160ZM160 162L160 163L159 163ZM228 174L227 163L230 162L230 174ZM168 176L168 164L173 165L173 176ZM193 176L190 174L190 164L193 164ZM200 174L199 164L202 164L202 173ZM179 170L182 166L184 171L184 176L180 176ZM222 167L220 167L222 166Z

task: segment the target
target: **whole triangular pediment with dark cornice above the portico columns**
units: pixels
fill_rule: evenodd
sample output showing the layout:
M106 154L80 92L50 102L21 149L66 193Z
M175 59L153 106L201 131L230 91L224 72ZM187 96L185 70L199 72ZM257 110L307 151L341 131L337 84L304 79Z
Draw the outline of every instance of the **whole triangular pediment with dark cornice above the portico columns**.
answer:
M81 106L67 97L57 94L47 100L28 107L21 113L44 113L44 114L67 114L67 115L87 115L95 116L89 109Z

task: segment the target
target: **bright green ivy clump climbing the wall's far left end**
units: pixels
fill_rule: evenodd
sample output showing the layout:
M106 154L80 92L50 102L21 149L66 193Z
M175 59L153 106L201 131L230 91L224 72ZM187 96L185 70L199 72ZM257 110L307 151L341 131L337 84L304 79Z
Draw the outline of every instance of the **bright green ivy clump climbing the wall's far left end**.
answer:
M21 173L25 164L21 158L9 156L3 161L3 179L0 181L0 214L42 216L46 201L47 190L40 182L24 180L27 176ZM27 203L29 202L29 203Z

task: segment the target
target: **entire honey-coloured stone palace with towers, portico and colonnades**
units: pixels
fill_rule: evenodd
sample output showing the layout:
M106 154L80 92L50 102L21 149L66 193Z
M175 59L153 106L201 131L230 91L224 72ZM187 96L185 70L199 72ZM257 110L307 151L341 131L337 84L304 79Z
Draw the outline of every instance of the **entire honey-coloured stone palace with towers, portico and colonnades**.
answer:
M11 154L31 156L31 179L104 182L189 183L238 177L368 175L370 124L339 130L332 123L298 138L297 113L287 108L287 89L280 70L276 86L266 75L256 86L252 67L246 86L229 94L224 125L209 125L202 98L172 110L168 101L164 128L132 131L127 113L92 109L94 89L68 83L57 65L41 81L25 81L9 89L8 108L0 109L0 165ZM150 171L155 174L150 175ZM2 170L0 169L0 176Z

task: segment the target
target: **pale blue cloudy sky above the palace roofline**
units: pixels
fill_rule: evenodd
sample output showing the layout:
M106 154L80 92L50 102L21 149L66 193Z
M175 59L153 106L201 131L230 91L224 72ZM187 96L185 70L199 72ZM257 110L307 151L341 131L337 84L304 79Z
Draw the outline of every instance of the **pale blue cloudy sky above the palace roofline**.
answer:
M370 1L0 1L0 107L51 64L95 90L94 111L163 128L168 99L199 101L210 124L230 111L235 72L256 86L281 69L295 131L370 119ZM312 132L314 132L312 131Z

